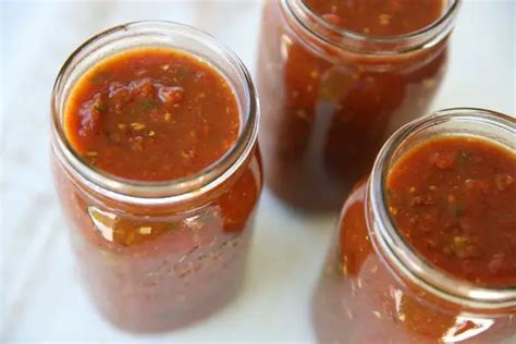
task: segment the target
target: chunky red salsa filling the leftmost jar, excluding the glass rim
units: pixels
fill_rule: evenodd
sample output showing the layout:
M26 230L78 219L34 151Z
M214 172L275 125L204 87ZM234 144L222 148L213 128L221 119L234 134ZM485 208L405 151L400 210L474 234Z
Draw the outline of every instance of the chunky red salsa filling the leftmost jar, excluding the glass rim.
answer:
M89 168L126 183L176 183L210 169L237 144L236 90L247 84L206 61L158 45L97 62L65 100L70 146ZM248 156L217 187L164 204L113 198L54 155L78 265L107 319L128 331L168 331L234 297L262 183L257 144L245 144Z

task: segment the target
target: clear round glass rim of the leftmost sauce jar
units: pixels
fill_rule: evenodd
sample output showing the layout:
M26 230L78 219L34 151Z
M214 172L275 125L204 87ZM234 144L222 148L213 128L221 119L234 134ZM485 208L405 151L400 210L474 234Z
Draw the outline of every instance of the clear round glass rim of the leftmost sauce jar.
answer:
M67 100L63 97L63 91L71 73L90 52L120 42L124 38L131 38L134 35L181 35L193 37L197 42L216 49L217 52L223 56L237 73L238 82L243 86L246 98L245 103L239 105L241 109L245 106L246 113L241 113L242 124L238 137L233 147L231 147L223 157L199 172L185 177L160 182L144 182L123 179L87 164L73 149L66 137L61 122L63 115L62 109ZM176 48L173 45L150 44L148 46L132 47L132 49L142 47ZM183 51L184 49L179 48L179 50ZM185 52L196 56L194 52ZM208 59L206 62L210 63ZM84 73L82 73L82 75ZM228 82L232 85L230 79L228 79ZM69 87L73 87L73 85L69 85ZM235 97L237 97L236 94ZM247 160L255 147L258 135L260 111L258 95L249 72L241 59L232 50L218 42L213 36L193 26L175 22L138 21L108 28L87 39L72 52L56 78L51 96L51 112L52 149L58 158L69 169L71 169L72 173L74 173L84 185L119 201L165 205L196 198L201 194L214 189L233 175Z

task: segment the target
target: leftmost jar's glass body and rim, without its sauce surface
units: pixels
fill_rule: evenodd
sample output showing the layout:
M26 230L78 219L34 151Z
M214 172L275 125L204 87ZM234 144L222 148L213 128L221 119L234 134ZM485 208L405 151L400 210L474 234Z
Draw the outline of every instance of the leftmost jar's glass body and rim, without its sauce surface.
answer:
M143 47L187 51L218 69L238 101L241 131L219 161L168 182L123 180L85 163L67 142L63 113L78 78L99 60ZM83 44L52 94L52 165L73 248L94 303L130 331L170 330L202 318L238 290L261 192L259 106L250 76L230 50L193 27L136 22ZM139 229L153 234L130 243ZM124 233L125 244L113 241Z

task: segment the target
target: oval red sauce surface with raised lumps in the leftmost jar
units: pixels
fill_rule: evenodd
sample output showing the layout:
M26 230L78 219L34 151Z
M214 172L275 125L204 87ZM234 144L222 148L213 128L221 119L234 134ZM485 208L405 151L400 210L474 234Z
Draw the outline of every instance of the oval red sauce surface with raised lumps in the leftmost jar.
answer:
M128 180L167 181L219 160L236 140L239 116L213 66L170 48L138 48L78 81L64 126L89 164Z

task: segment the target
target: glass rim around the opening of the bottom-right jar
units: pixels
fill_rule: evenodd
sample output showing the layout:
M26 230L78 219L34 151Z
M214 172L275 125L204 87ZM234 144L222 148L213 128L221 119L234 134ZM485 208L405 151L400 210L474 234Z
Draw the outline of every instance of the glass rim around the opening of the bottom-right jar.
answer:
M471 307L516 306L516 287L483 288L437 270L402 237L386 210L386 179L394 163L408 150L439 136L475 137L515 151L514 119L481 109L449 109L411 122L398 130L384 145L374 162L368 197L372 214L368 217L371 235L396 270L423 287L454 303ZM374 219L374 220L373 220ZM378 235L376 235L378 234Z

